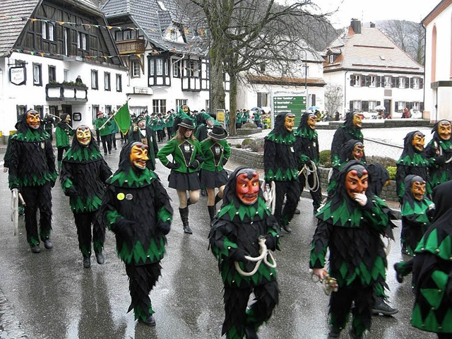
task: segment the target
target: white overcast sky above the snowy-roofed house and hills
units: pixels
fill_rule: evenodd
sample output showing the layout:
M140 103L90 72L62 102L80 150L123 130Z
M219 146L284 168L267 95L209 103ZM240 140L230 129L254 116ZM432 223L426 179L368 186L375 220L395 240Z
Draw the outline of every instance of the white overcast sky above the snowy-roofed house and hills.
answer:
M377 20L408 20L420 23L436 7L440 0L312 0L322 8L323 13L338 13L330 18L335 28L350 25L350 19L362 22Z

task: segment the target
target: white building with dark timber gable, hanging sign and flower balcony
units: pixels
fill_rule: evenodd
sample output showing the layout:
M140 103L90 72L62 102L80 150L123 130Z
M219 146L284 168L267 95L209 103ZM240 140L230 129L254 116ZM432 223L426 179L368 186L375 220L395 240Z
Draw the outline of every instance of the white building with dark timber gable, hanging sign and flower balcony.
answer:
M6 0L0 16L0 132L30 108L92 126L126 102L127 69L91 0ZM81 76L84 85L76 82Z

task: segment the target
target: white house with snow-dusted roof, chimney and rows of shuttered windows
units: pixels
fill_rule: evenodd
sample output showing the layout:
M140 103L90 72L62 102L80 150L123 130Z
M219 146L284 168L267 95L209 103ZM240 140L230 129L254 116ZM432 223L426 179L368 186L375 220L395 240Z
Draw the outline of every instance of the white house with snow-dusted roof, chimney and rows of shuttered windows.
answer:
M325 54L324 80L343 89L340 114L359 110L369 116L378 105L393 117L404 107L424 110L424 68L374 24L365 28L352 19Z

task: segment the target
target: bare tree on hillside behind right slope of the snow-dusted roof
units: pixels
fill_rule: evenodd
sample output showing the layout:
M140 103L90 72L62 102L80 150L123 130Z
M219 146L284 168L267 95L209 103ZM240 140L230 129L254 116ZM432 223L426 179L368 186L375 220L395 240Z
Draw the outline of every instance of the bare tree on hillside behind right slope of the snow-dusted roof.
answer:
M418 64L424 65L425 31L421 23L405 20L385 20L378 23L395 44Z

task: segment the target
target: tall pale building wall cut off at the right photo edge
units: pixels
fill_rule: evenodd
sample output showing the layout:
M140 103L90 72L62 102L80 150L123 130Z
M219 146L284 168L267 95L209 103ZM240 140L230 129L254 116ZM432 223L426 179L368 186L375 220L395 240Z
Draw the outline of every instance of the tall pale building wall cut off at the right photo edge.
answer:
M435 1L436 3L438 1ZM440 1L425 28L425 111L430 121L452 119L452 0Z

